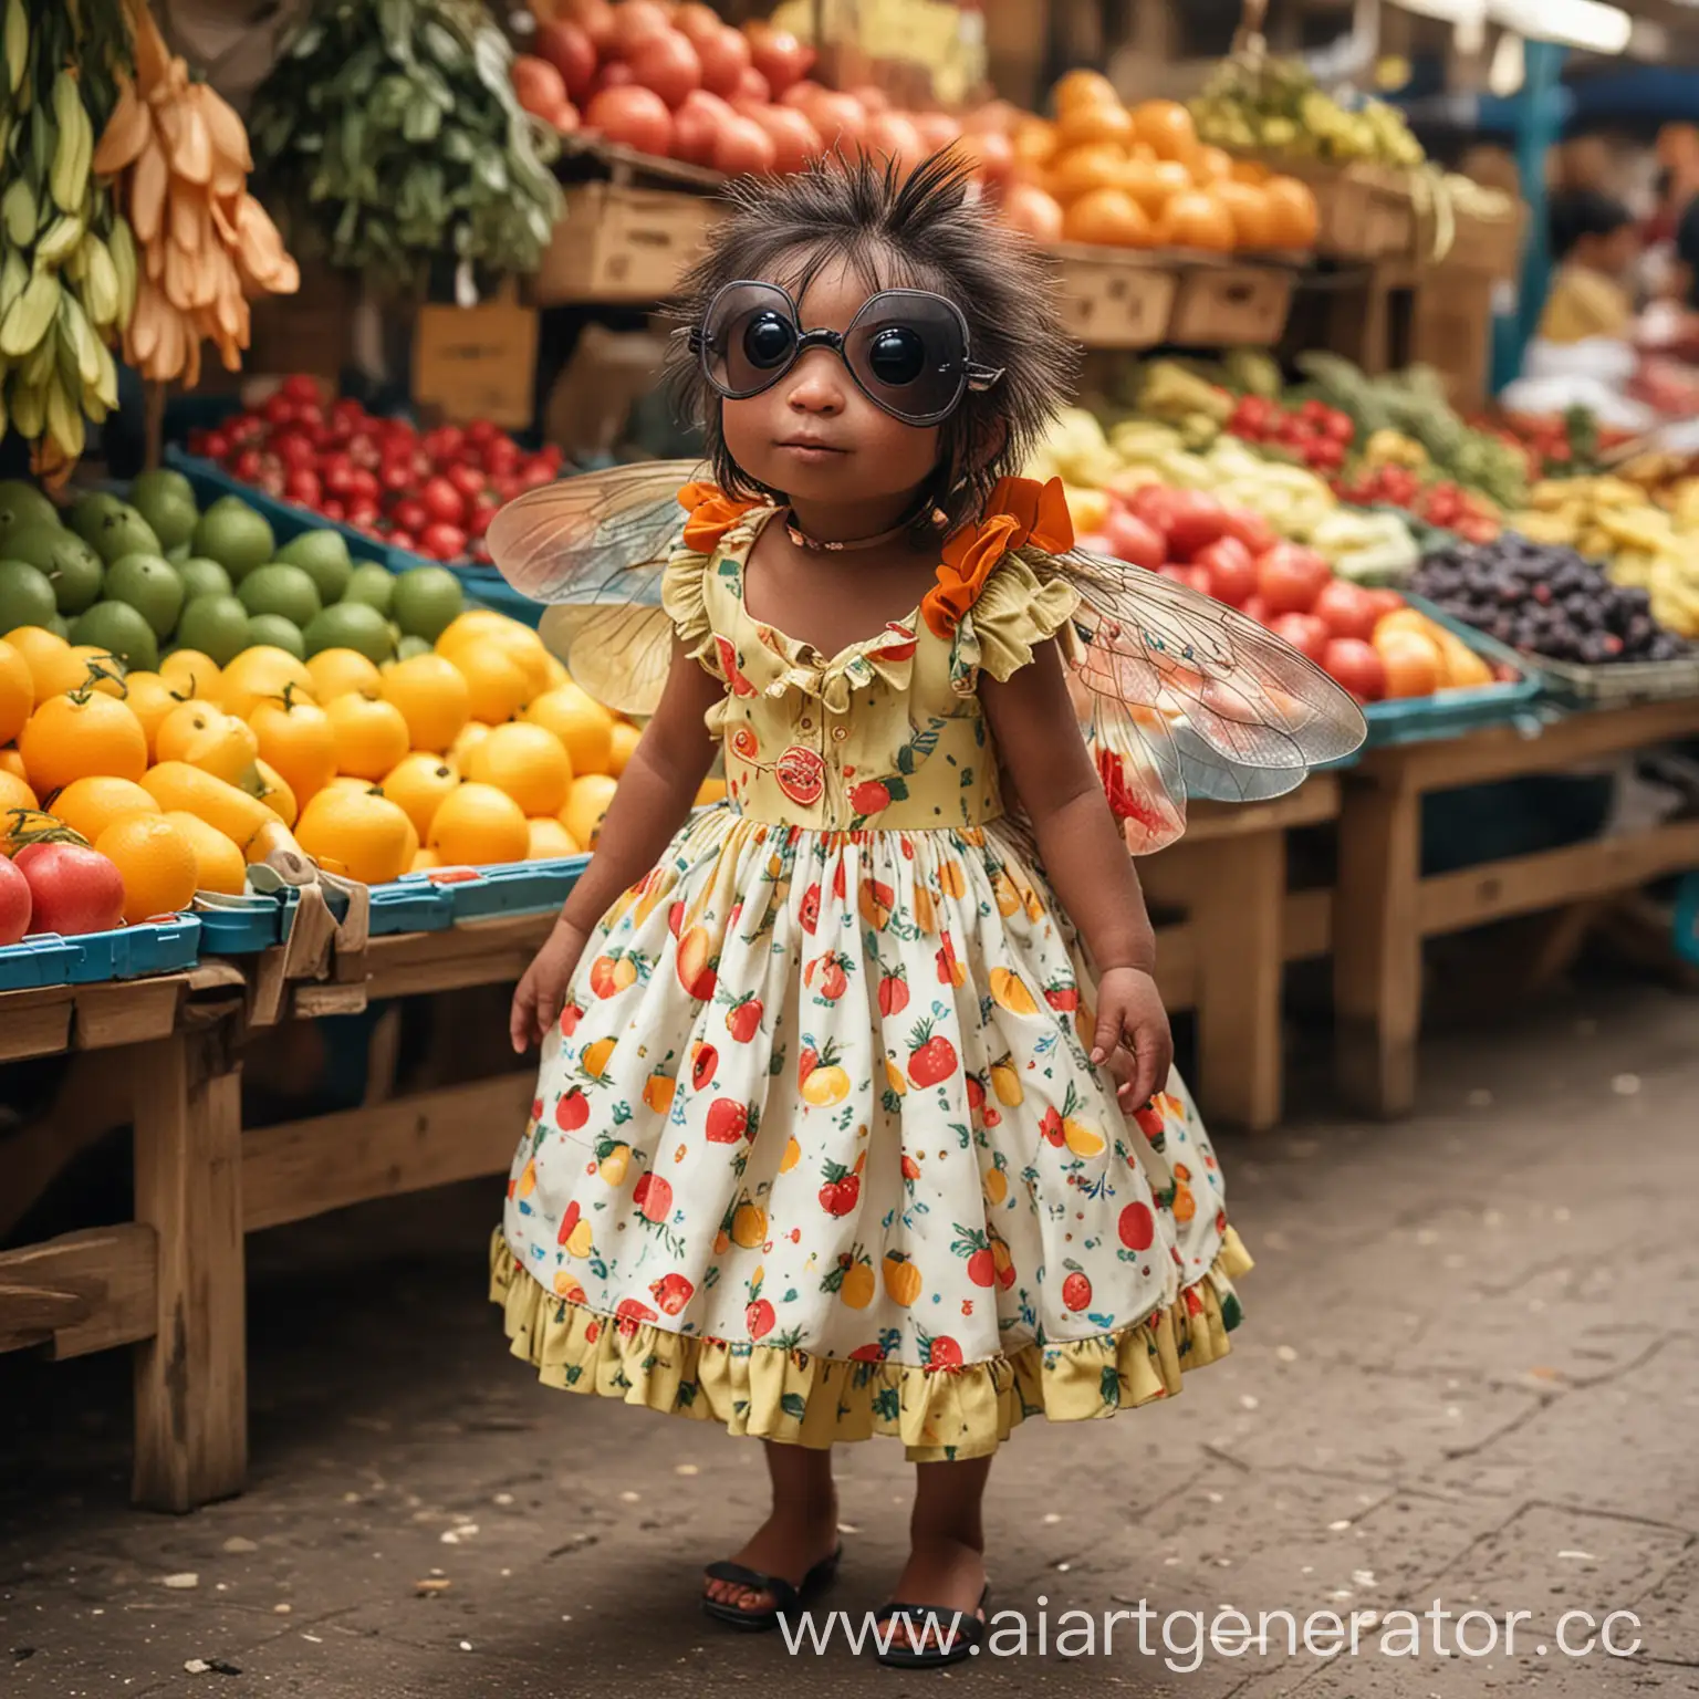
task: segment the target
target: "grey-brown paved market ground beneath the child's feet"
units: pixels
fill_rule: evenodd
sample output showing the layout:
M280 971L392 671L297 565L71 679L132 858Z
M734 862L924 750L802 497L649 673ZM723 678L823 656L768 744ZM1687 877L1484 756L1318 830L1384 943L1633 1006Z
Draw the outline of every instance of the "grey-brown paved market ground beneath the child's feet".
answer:
M833 1643L792 1657L691 1604L758 1516L761 1463L715 1429L540 1390L483 1301L500 1188L374 1206L251 1240L253 1480L170 1519L126 1504L121 1356L0 1359L0 1691L542 1699L799 1699L1108 1689L1183 1699L1555 1699L1699 1691L1699 1008L1645 991L1546 1002L1424 1047L1422 1113L1222 1140L1259 1257L1227 1363L1183 1398L1021 1431L992 1476L994 1607L1030 1650L948 1677ZM1308 1099L1308 1101L1307 1101ZM894 1446L839 1453L833 1604L902 1555ZM1065 1611L1098 1650L1036 1650ZM1101 1646L1103 1612L1149 1600ZM1483 1612L1441 1657L1188 1655L1203 1612ZM1560 1617L1612 1611L1629 1658L1561 1655ZM1502 1623L1517 1619L1507 1657ZM1497 1628L1493 1624L1499 1624ZM1589 1633L1570 1619L1580 1646ZM1325 1648L1325 1623L1313 1628ZM1454 1650L1454 1626L1442 1643ZM1064 1655L1069 1653L1069 1655ZM1188 1670L1186 1665L1198 1663Z

